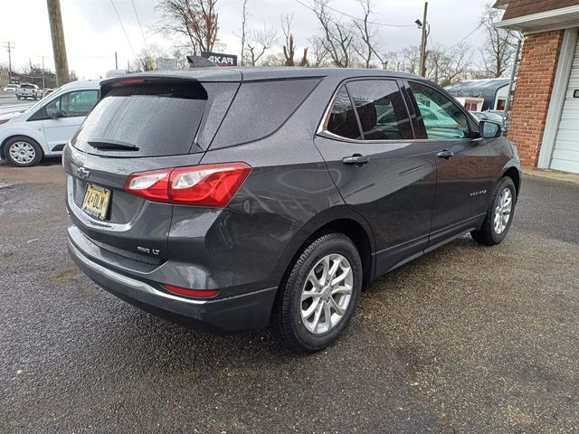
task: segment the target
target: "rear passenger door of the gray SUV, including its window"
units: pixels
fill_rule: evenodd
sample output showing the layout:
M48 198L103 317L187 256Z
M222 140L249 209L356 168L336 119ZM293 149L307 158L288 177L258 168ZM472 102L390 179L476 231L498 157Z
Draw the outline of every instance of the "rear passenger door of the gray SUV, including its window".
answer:
M375 234L382 274L422 253L431 230L436 165L416 142L396 80L353 80L331 103L316 146L345 202Z

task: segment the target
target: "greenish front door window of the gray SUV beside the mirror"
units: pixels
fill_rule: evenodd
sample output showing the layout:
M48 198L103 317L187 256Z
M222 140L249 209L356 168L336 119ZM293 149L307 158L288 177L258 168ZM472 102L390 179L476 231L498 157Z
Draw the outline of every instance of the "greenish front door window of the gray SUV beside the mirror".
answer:
M420 83L410 82L410 89L426 129L426 137L416 138L452 140L469 137L467 116L451 99Z

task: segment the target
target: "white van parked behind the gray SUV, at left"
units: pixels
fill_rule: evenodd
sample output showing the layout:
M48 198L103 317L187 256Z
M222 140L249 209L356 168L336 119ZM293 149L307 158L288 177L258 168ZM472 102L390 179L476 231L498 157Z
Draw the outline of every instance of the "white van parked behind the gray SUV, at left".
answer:
M0 158L30 167L59 156L100 95L100 80L73 81L24 112L0 115Z

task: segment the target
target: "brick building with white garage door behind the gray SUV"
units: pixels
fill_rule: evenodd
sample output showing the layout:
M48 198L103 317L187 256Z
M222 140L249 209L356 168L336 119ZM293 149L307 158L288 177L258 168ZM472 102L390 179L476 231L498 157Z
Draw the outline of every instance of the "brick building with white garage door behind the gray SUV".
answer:
M579 173L579 0L497 0L525 36L508 137L523 165Z

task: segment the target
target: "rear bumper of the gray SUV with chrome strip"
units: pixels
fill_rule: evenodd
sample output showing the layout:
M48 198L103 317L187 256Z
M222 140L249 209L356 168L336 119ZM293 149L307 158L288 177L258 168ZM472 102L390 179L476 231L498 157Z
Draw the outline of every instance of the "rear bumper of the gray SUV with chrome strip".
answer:
M157 316L214 333L255 330L270 322L277 288L211 300L177 297L156 288L152 282L126 276L97 263L70 239L68 248L72 260L101 288Z

